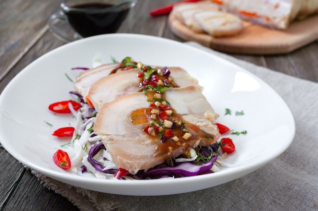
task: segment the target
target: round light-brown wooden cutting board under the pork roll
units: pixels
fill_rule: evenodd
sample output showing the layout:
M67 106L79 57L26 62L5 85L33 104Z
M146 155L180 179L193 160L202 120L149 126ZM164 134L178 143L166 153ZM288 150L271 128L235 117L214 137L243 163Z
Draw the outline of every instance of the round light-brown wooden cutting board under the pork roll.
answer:
M287 30L270 29L245 21L243 31L229 38L214 38L206 33L196 33L176 19L173 13L169 15L168 22L172 32L179 38L229 53L289 53L318 40L318 15L293 22Z

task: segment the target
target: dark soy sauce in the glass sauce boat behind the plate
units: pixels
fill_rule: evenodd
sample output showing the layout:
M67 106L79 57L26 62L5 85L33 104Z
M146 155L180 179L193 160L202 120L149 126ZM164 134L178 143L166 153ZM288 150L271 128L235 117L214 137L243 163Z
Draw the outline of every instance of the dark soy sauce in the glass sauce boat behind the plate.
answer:
M115 12L101 12L102 9L112 7L107 3L86 3L72 7L87 9L86 11L65 12L69 23L84 38L104 33L115 33L129 12L129 8ZM94 9L99 11L94 11Z

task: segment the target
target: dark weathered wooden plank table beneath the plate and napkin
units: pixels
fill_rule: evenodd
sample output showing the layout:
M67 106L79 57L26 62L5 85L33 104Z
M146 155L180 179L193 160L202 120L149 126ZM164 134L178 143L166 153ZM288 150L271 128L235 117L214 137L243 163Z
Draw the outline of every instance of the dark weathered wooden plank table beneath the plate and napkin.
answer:
M49 31L47 20L61 0L0 0L0 91L30 62L61 46ZM169 29L167 16L148 12L175 0L139 0L118 32L140 33L180 41ZM277 72L318 82L318 42L285 55L234 55ZM282 82L283 83L283 82ZM18 132L18 131L17 131ZM43 187L5 149L0 148L1 210L78 210L66 198Z

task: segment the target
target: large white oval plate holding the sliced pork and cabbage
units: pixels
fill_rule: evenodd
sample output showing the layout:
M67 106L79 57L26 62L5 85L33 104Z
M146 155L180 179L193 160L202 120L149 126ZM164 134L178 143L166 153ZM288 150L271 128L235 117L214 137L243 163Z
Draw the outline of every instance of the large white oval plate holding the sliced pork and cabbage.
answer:
M74 118L53 115L48 105L70 98L79 71L72 67L92 65L100 53L104 63L111 57L131 56L146 64L181 66L205 87L220 118L218 122L246 135L233 138L236 152L222 171L196 177L146 181L103 180L83 177L58 168L54 152L65 143L51 135ZM157 37L108 34L75 41L40 57L23 69L0 96L0 139L5 149L23 164L63 183L99 192L122 195L168 195L213 187L235 180L270 162L285 151L295 135L293 116L280 96L262 80L241 67L194 47ZM225 109L245 115L224 115ZM61 117L63 116L63 117ZM49 126L45 123L53 125Z

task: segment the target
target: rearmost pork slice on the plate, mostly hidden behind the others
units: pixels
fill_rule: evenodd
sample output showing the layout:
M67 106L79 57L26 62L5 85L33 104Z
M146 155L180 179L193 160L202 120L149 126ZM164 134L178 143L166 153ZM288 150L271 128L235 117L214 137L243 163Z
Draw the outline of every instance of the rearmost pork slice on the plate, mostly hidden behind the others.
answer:
M111 74L117 67L118 63L103 64L101 66L88 69L82 72L76 78L74 89L78 91L83 97L88 95L91 85L100 80L101 78Z

